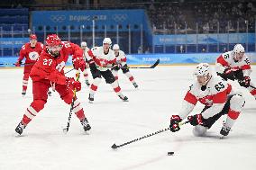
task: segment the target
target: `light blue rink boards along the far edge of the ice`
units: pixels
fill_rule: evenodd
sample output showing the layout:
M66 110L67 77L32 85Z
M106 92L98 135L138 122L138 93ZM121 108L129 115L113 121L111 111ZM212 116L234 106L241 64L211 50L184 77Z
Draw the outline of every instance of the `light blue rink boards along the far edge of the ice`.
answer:
M256 53L249 52L246 55L251 59L251 64L256 64ZM215 63L215 59L220 53L193 53L193 54L132 54L127 55L128 65L152 65L160 58L160 65L174 64L196 64L196 63ZM0 67L14 67L17 57L0 58ZM71 58L69 58L66 66L71 66Z

